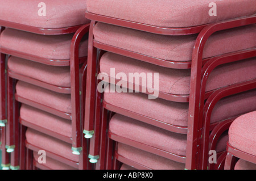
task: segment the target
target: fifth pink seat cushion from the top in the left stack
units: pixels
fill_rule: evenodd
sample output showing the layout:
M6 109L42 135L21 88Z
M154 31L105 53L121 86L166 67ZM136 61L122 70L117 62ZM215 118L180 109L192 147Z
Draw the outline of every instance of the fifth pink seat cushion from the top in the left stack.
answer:
M63 136L72 137L71 120L63 119L34 107L22 104L20 118L28 123L59 133Z

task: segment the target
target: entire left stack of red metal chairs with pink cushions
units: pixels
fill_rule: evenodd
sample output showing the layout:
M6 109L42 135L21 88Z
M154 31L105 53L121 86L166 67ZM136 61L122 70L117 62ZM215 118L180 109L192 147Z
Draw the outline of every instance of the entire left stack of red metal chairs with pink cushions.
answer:
M86 0L0 4L3 166L90 169L81 133L90 23ZM46 165L37 162L39 150L46 153Z

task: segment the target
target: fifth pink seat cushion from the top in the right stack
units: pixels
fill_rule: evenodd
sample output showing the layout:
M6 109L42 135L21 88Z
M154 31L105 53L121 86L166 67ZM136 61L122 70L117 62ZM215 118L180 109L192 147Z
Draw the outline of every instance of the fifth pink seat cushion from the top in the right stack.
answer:
M170 153L181 156L186 154L186 134L166 131L117 113L110 120L109 132ZM227 140L225 137L222 138ZM223 142L219 141L219 143ZM222 146L219 146L218 150L225 150L225 146L226 142Z

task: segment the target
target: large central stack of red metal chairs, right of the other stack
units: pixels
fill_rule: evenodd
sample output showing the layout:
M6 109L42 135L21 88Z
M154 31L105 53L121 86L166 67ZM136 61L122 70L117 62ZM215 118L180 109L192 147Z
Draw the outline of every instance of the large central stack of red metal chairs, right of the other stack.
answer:
M84 133L96 169L202 169L201 150L212 144L224 155L228 140L209 133L256 110L255 2L214 1L216 17L208 15L210 2L87 1ZM112 76L113 68L124 74ZM123 80L129 73L159 73L159 89ZM204 124L214 92L248 82L218 99ZM148 99L154 91L158 98Z

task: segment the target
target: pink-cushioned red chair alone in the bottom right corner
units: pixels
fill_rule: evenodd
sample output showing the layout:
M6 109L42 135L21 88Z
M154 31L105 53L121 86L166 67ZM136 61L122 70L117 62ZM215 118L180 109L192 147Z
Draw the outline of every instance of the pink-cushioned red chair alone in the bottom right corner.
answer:
M225 170L256 169L255 119L256 111L253 111L237 117L230 125Z

